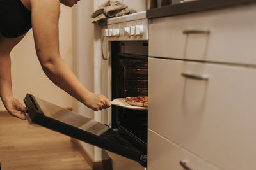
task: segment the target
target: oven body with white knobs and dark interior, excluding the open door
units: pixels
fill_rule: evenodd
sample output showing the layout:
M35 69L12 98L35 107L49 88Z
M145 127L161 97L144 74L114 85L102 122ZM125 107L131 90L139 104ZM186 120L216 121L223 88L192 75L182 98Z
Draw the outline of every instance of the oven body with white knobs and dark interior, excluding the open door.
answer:
M148 22L145 11L142 11L111 18L108 25L102 28L102 77L105 78L102 92L112 101L148 96ZM112 106L108 115L109 127L147 157L148 111ZM143 168L121 166L116 169Z

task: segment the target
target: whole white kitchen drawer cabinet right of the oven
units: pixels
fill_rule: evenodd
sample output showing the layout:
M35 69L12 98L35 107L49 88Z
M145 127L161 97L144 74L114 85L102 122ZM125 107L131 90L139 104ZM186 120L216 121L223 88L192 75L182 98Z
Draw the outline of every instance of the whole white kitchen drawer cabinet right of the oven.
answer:
M153 19L148 169L168 169L183 152L216 169L256 169L255 11L251 4ZM211 169L201 163L191 169Z

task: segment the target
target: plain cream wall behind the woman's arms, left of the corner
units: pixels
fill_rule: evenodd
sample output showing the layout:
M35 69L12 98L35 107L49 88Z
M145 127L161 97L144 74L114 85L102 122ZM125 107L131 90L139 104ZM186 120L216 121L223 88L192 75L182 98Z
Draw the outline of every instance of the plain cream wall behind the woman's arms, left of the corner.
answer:
M72 10L61 5L60 15L60 53L61 57L72 67ZM22 101L29 92L37 97L58 104L72 107L72 98L56 87L44 74L35 52L32 31L15 46L12 53L12 87L13 95ZM0 111L5 111L0 102Z

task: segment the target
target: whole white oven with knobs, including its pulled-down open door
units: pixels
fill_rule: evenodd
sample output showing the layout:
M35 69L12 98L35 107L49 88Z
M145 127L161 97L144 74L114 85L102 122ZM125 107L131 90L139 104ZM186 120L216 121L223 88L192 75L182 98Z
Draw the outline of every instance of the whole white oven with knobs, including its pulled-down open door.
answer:
M145 11L108 20L108 26L102 29L102 46L104 44L108 45L108 50L102 49L102 62L107 66L100 69L108 74L108 82L104 82L109 84L108 98L147 96L148 20ZM111 106L109 122L102 124L32 94L26 95L24 103L29 122L134 160L140 169L147 167L147 110Z

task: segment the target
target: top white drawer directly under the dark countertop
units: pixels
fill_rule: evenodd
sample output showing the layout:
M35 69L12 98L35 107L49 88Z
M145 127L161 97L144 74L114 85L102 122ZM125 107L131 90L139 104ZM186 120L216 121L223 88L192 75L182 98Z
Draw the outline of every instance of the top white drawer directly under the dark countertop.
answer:
M149 55L173 59L256 64L256 4L156 18Z

